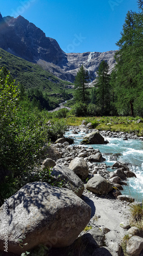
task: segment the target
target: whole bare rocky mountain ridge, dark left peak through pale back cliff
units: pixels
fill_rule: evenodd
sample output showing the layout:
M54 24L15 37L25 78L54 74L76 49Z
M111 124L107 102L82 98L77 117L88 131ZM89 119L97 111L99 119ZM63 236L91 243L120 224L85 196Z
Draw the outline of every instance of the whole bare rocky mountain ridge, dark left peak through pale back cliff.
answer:
M0 13L0 47L4 50L38 63L61 79L73 82L74 77L83 63L89 71L91 81L96 78L96 71L102 60L112 70L116 51L85 52L66 54L55 39L46 37L45 33L22 16L2 17Z

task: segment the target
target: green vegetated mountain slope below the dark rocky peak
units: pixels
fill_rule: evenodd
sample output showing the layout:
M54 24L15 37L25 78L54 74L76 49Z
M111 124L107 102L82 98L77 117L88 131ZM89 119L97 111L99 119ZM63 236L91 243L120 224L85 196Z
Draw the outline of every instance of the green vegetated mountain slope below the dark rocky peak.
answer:
M16 84L18 82L19 84L23 84L25 91L31 88L42 91L45 99L46 97L44 94L47 93L49 97L51 93L60 93L61 90L64 91L69 84L72 84L69 81L63 81L55 77L50 72L43 70L43 68L39 65L14 56L1 48L0 56L2 57L0 60L0 66L7 67L11 73L11 76L16 79ZM71 89L66 89L65 93L68 93L69 97L69 93L71 92ZM52 104L53 101L54 96L52 99Z

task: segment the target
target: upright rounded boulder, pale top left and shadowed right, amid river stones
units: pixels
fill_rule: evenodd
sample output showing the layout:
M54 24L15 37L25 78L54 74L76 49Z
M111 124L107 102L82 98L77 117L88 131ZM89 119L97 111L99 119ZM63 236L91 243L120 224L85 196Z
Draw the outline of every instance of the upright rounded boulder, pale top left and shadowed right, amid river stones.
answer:
M84 159L76 157L73 159L70 164L69 168L73 170L73 172L81 179L84 180L89 175L89 167Z

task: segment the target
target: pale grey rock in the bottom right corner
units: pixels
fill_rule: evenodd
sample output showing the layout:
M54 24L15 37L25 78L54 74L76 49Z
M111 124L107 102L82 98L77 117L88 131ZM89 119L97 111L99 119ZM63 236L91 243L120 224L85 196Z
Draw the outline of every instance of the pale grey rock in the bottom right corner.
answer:
M127 241L126 252L131 256L139 256L143 250L143 238L133 236Z

